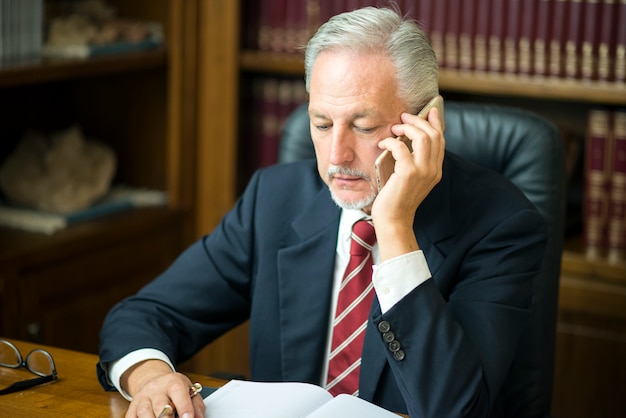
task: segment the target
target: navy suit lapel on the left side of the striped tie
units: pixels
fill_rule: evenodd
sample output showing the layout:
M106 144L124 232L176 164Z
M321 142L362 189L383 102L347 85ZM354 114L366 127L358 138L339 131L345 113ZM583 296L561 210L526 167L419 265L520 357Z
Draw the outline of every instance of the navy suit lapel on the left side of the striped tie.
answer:
M278 252L284 380L319 383L326 348L319 333L329 323L340 213L324 187Z

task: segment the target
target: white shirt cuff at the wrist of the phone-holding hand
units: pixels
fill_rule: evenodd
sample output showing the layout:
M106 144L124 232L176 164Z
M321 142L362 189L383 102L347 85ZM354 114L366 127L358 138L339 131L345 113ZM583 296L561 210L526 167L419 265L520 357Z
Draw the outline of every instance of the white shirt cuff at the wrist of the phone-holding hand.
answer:
M394 257L374 266L372 282L382 313L431 278L422 250Z

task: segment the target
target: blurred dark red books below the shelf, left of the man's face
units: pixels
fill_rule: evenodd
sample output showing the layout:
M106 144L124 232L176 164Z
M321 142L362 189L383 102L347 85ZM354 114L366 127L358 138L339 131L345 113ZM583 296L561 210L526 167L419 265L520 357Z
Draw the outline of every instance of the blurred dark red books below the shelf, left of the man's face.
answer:
M239 126L241 183L260 167L278 159L278 145L287 117L307 100L302 77L257 76L242 85L242 118Z

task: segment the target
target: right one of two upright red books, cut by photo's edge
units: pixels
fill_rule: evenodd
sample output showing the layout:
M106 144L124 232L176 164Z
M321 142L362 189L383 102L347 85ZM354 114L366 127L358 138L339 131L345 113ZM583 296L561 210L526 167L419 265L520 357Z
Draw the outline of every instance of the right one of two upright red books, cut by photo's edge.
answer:
M626 261L626 109L613 112L608 260Z

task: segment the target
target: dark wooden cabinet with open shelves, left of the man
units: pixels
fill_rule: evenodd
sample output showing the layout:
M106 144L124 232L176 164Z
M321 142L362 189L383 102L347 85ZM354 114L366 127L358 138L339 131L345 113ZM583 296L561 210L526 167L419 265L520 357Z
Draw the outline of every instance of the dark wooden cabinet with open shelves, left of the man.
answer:
M80 124L86 137L114 150L114 183L164 190L168 203L51 236L0 228L3 337L96 352L106 312L158 275L198 234L197 4L111 3L122 16L160 22L165 46L1 67L0 160L28 128L52 132ZM203 215L213 213L209 208Z

